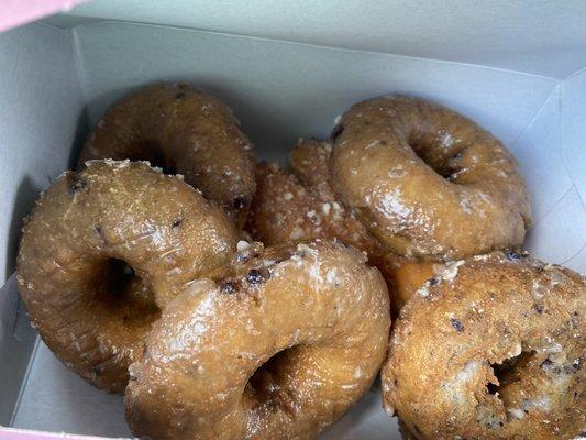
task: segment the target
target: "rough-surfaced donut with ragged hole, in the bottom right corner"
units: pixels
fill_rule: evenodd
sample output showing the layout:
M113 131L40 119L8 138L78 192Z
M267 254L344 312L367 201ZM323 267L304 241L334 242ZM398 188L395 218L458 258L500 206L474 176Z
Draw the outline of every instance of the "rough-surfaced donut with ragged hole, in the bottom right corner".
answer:
M385 408L417 440L577 438L585 310L586 277L562 266L516 252L452 263L395 322Z

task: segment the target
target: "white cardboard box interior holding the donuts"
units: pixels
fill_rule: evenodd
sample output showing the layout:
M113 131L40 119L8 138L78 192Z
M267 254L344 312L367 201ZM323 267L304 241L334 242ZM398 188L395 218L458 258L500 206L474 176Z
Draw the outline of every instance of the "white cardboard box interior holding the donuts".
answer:
M272 160L364 98L451 106L518 158L533 206L527 249L586 272L585 22L581 1L95 0L0 34L0 425L130 436L122 398L38 341L11 275L38 191L109 105L148 82L212 91ZM323 438L399 435L371 392Z

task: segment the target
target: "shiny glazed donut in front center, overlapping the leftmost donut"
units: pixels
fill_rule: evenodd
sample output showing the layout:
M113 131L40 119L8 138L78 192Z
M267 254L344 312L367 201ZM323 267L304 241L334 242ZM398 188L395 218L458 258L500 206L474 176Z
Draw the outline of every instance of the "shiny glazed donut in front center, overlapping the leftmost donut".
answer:
M151 439L313 439L368 389L390 326L365 257L317 241L200 280L131 365L126 419Z

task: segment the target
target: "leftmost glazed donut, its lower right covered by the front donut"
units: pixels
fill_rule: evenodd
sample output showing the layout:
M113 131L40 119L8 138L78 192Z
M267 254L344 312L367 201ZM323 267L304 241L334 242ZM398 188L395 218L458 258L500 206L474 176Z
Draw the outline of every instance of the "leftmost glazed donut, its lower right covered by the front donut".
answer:
M91 161L63 174L26 220L19 287L56 356L121 392L159 309L228 264L236 243L221 209L180 178L145 163Z

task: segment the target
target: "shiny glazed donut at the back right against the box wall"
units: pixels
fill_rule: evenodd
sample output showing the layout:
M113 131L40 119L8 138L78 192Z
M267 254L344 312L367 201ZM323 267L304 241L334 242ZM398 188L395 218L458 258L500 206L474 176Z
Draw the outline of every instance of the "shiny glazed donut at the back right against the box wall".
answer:
M332 142L336 194L389 250L455 260L522 244L530 206L517 164L467 118L386 96L353 106Z

